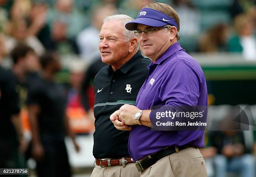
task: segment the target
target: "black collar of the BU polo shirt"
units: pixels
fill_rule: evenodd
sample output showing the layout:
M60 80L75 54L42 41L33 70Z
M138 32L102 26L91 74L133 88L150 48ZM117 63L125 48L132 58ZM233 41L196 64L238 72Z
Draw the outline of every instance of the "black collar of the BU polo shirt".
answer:
M138 51L129 61L119 68L122 73L127 73L133 66L137 64L138 58L141 58L141 51ZM108 72L113 73L112 66L108 66Z

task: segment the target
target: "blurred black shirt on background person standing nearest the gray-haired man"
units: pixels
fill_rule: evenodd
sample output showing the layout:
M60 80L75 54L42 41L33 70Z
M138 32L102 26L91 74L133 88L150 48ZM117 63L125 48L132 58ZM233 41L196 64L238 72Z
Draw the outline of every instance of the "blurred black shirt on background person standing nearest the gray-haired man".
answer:
M28 105L40 107L38 114L39 134L64 137L64 117L67 95L64 87L54 81L38 78L28 90Z

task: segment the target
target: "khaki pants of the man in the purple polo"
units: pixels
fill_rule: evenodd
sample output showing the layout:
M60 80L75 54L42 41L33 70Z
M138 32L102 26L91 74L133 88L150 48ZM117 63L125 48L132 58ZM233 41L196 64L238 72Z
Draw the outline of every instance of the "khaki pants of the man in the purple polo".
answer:
M160 159L141 177L207 177L207 170L199 149L189 147Z

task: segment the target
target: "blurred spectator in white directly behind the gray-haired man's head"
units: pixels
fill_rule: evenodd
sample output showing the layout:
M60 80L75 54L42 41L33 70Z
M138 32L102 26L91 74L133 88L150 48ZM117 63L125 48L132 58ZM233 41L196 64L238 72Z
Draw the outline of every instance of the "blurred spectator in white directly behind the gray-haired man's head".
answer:
M100 5L92 8L91 25L82 30L77 36L77 44L82 57L87 63L92 62L93 58L100 56L99 52L99 34L103 24L103 19L106 16L114 15L117 12L113 4Z

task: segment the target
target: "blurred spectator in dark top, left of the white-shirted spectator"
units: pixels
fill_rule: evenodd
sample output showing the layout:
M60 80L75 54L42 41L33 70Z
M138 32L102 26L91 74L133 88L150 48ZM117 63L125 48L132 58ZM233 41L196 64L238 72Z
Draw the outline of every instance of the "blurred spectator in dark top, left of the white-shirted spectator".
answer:
M60 55L78 54L75 40L68 38L68 22L65 19L55 20L51 26L51 38L46 42L46 49Z

